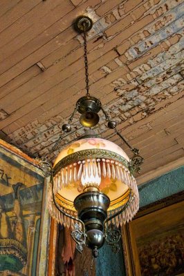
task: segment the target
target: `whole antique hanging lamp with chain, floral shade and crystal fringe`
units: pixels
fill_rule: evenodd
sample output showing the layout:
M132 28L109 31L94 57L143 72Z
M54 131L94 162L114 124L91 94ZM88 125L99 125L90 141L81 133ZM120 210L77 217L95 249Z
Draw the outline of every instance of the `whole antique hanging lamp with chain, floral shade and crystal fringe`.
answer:
M39 166L44 175L50 175L51 179L48 189L50 215L64 226L73 228L71 235L77 250L82 252L82 246L86 245L91 248L93 257L98 257L98 249L104 240L117 252L121 236L118 227L131 220L138 211L138 188L132 172L140 171L143 158L139 150L132 148L118 132L117 122L109 117L100 100L89 94L86 32L91 30L92 20L85 16L78 17L74 26L84 39L86 95L78 99L50 153L71 131L75 112L81 114L80 124L91 128L97 126L100 120L98 112L101 111L108 128L116 132L134 156L129 159L116 144L88 134L63 148L53 166L48 161L50 155L42 157ZM73 221L77 222L74 224Z

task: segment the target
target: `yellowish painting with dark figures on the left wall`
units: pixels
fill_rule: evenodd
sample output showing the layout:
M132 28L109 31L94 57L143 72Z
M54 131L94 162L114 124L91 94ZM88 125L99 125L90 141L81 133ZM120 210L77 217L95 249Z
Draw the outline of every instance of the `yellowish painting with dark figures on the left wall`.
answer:
M43 188L36 166L0 146L0 275L36 275Z

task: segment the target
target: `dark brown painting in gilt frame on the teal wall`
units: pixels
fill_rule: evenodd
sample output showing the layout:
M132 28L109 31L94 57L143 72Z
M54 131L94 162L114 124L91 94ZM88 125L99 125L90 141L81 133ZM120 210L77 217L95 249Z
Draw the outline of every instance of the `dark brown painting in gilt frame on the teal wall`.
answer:
M184 275L184 193L140 209L124 227L127 275Z

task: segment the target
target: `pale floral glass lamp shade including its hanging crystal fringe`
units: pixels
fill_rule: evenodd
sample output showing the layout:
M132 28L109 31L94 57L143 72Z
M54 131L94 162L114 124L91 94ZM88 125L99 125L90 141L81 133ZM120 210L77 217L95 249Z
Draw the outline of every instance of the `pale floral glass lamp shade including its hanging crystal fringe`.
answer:
M100 138L80 139L69 144L58 155L53 166L53 190L48 192L50 215L64 226L73 226L73 219L57 210L59 208L77 217L75 198L98 190L110 199L107 216L118 212L129 201L127 208L113 222L116 226L134 217L139 207L136 179L129 171L129 157L111 141Z

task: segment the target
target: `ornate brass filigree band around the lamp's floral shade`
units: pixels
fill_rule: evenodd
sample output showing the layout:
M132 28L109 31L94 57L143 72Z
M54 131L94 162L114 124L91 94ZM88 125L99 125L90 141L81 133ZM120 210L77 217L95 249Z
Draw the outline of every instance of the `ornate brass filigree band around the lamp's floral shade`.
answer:
M53 175L56 175L61 168L64 168L70 165L71 163L82 161L84 159L89 159L90 157L93 159L94 158L113 159L113 160L119 161L127 168L129 168L129 162L127 161L127 159L125 159L121 155L118 155L118 153L112 152L110 150L102 150L100 148L92 148L89 150L80 150L80 151L74 152L71 155L67 155L66 157L61 159L53 168Z

